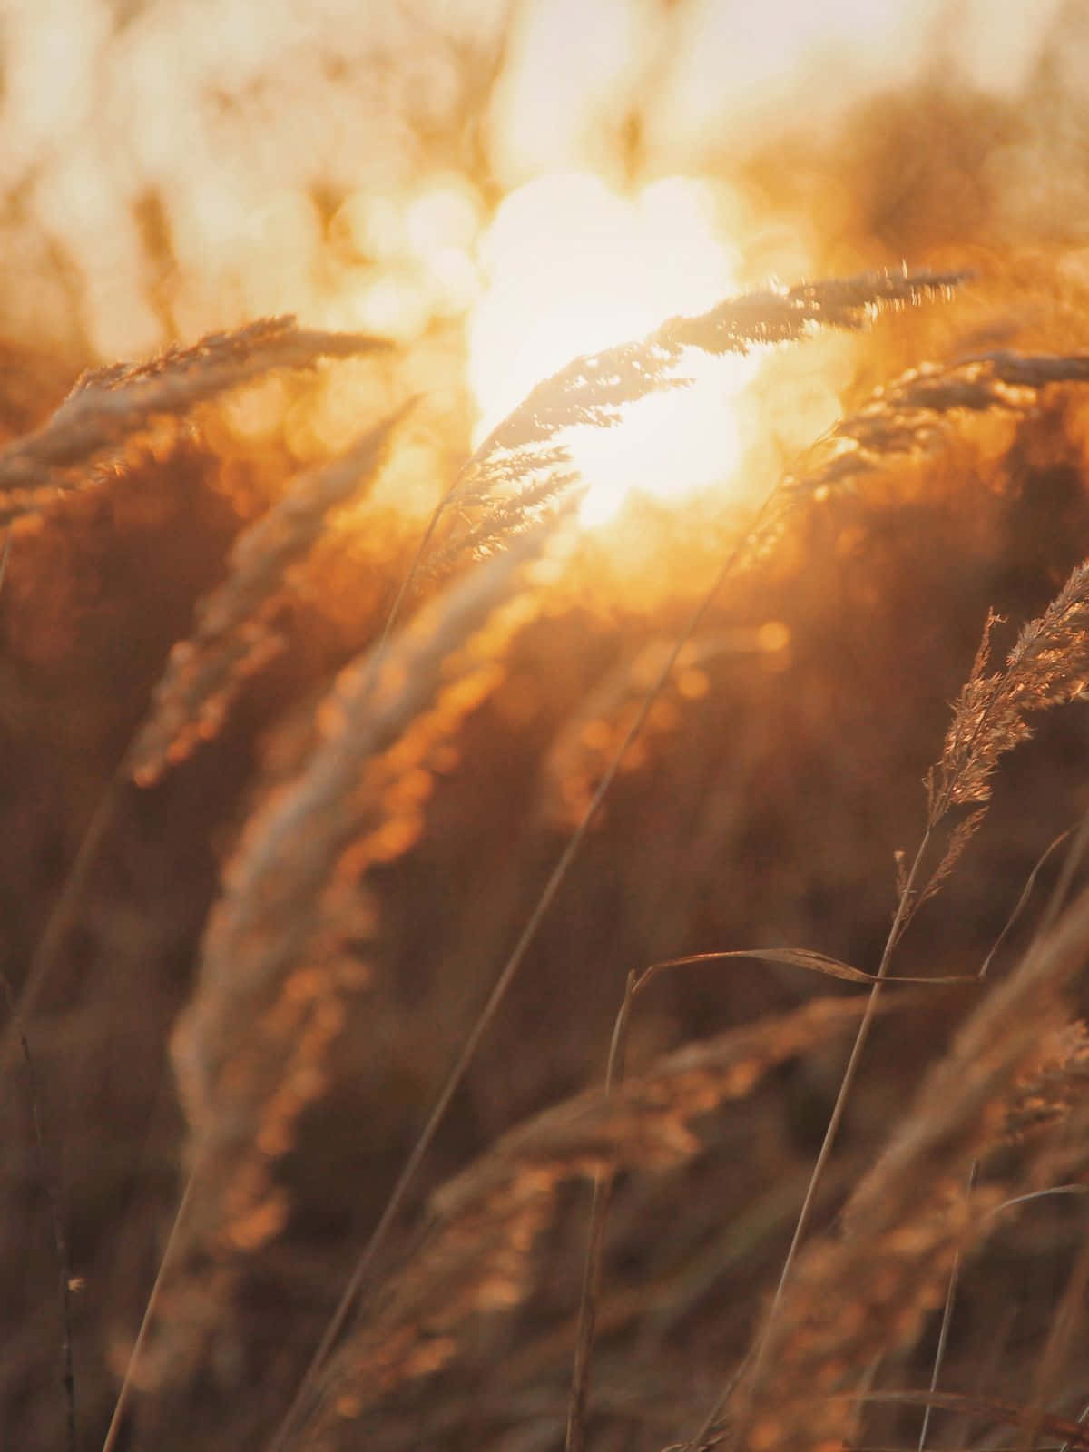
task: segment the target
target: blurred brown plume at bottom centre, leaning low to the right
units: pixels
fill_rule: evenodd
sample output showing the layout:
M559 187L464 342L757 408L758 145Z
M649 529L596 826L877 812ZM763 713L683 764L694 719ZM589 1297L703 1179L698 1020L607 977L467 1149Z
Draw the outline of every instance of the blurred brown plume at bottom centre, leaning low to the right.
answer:
M857 1024L860 1012L857 1000L817 999L681 1048L611 1093L579 1095L505 1134L434 1195L427 1240L386 1286L380 1311L330 1362L298 1445L354 1445L351 1422L449 1362L473 1316L517 1305L565 1180L682 1163L700 1147L696 1119L745 1098L777 1064Z

